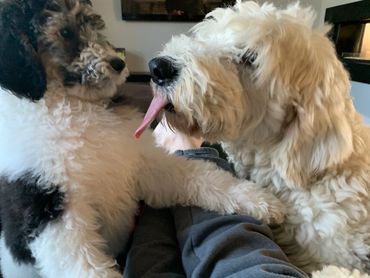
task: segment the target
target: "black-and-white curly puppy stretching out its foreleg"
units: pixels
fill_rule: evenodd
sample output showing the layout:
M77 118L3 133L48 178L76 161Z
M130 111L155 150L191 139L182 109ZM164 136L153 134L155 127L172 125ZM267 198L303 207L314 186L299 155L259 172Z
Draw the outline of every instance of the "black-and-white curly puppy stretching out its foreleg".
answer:
M128 70L103 27L89 0L0 3L5 277L121 277L114 258L140 199L282 221L253 184L133 138L142 116L107 107Z

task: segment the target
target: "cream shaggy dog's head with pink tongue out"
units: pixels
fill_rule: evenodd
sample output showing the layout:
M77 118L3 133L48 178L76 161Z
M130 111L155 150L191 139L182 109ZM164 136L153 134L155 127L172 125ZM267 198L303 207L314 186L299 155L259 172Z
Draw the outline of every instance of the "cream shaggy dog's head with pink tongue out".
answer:
M214 10L150 62L155 97L138 134L165 107L184 132L282 152L273 163L292 184L342 161L352 151L349 78L329 28L313 21L298 4L237 1Z

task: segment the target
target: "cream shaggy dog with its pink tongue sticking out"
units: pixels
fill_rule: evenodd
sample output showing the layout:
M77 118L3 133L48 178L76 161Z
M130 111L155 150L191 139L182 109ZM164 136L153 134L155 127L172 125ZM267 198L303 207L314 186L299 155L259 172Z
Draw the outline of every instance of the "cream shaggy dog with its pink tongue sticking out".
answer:
M154 98L139 135L169 123L221 142L239 177L288 207L276 240L306 271L370 270L370 129L314 13L238 1L150 62Z

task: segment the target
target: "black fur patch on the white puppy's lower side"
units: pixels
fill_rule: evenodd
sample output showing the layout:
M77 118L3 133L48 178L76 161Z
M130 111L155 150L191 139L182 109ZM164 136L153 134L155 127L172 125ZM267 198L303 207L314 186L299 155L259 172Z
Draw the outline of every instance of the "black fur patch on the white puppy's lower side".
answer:
M14 259L34 263L28 244L64 209L64 193L58 186L43 186L30 174L14 182L0 180L2 233Z

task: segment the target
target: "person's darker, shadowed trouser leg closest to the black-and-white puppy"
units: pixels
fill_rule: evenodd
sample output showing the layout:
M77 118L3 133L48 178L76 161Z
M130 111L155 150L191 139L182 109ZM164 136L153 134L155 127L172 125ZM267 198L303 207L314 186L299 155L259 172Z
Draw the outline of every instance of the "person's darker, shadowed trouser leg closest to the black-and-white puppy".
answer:
M144 207L133 233L124 277L185 277L173 218L168 209Z

